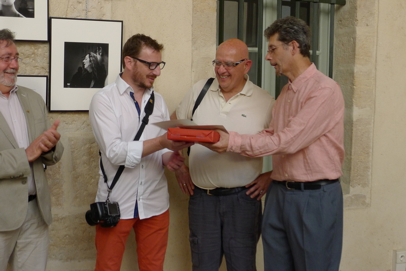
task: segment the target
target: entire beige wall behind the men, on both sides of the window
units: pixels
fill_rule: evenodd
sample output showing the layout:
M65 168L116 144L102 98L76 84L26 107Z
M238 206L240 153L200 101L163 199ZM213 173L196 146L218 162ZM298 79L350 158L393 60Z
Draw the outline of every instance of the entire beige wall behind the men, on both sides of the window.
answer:
M345 224L342 271L390 271L392 250L406 248L406 2L347 0L336 8L334 79L346 99ZM163 43L165 69L156 82L172 112L189 87L213 75L215 0L49 0L52 17L123 20L123 42L143 32ZM17 42L20 74L49 74L49 44ZM78 97L80 98L80 97ZM47 270L94 269L93 202L97 145L86 112L60 119L65 152L49 167L54 223ZM190 270L187 197L166 172L171 195L165 270ZM130 234L122 270L138 270ZM257 268L263 270L258 246ZM222 266L224 271L225 267Z

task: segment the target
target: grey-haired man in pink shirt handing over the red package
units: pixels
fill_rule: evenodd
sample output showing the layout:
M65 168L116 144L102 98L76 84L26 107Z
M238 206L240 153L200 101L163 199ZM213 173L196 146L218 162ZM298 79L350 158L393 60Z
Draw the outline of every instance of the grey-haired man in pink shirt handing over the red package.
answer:
M265 271L338 271L343 240L344 99L340 86L311 63L310 29L294 17L265 30L266 60L286 75L269 128L228 134L206 147L273 155L262 223Z

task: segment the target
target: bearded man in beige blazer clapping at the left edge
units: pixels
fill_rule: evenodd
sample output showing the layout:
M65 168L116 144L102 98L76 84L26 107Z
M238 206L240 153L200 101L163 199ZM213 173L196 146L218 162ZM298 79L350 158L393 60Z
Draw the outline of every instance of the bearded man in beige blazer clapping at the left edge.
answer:
M0 30L0 271L43 271L47 264L51 197L44 164L62 156L41 95L17 86L14 34Z

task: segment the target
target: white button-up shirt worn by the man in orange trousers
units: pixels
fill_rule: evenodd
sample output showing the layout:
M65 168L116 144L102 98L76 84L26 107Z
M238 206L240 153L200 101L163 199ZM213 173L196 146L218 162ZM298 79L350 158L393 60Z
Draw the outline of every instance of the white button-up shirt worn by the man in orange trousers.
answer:
M139 141L133 141L145 116L144 108L152 88L143 95L140 120L130 96L132 88L121 79L98 91L92 98L89 118L94 137L100 148L101 159L111 185L120 165L125 165L120 179L110 195L110 201L117 201L121 219L134 217L138 201L140 219L160 215L169 208L169 194L162 165L162 154L169 150L157 151L141 158L143 141L161 136L166 131L153 125L154 122L170 120L165 101L154 92L154 111L149 117ZM107 199L107 185L99 170L96 201Z

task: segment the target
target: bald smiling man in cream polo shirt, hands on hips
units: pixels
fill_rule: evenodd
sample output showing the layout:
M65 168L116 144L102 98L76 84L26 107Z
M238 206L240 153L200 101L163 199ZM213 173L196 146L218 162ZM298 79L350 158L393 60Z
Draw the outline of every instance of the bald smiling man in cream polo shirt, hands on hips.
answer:
M223 42L213 65L216 79L194 84L171 118L193 118L198 125L223 125L244 133L267 127L275 99L249 80L252 61L247 45L238 39ZM193 114L206 83L207 93ZM218 270L223 255L227 270L256 270L260 199L269 185L269 173L261 171L262 158L220 155L198 144L190 148L189 167L182 165L176 176L183 193L190 195L193 271Z

